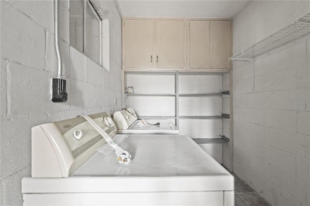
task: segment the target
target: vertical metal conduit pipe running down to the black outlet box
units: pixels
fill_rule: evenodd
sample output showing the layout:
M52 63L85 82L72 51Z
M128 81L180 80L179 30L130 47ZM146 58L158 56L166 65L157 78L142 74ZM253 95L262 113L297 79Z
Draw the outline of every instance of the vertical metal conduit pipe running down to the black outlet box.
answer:
M58 0L54 0L54 30L55 30L55 49L57 57L57 76L56 78L62 79L62 58L59 50L59 34L58 34Z

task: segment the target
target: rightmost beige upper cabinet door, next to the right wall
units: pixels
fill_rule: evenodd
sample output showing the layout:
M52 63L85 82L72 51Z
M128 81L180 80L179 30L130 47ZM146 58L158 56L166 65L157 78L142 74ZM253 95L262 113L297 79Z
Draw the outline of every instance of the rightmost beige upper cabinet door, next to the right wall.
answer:
M210 21L210 68L230 68L224 60L231 57L231 22Z

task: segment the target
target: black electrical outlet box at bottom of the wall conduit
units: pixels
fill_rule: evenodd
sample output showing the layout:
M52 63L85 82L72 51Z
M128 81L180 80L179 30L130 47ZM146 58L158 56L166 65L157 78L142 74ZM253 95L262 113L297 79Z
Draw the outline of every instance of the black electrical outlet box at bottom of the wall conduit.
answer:
M50 79L50 100L53 103L63 103L68 100L66 92L66 80L51 78Z

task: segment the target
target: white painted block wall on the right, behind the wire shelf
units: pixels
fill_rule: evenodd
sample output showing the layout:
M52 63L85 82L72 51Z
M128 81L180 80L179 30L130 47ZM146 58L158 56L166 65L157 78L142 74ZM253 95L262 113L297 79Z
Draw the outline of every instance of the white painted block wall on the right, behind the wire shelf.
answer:
M310 13L310 1L252 1L233 54ZM310 36L233 62L233 172L273 206L310 205Z

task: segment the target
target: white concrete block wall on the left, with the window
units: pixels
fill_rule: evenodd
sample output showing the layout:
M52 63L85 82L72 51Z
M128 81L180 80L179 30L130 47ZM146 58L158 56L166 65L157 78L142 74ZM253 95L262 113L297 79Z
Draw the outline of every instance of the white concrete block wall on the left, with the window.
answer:
M122 19L115 1L102 1L101 17L109 19L109 71L69 46L69 1L59 2L66 103L49 100L50 78L57 73L53 1L0 1L0 205L22 205L21 179L31 176L31 127L121 109Z

